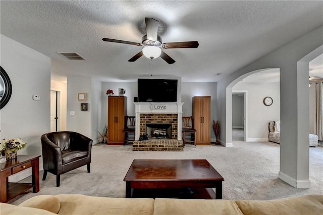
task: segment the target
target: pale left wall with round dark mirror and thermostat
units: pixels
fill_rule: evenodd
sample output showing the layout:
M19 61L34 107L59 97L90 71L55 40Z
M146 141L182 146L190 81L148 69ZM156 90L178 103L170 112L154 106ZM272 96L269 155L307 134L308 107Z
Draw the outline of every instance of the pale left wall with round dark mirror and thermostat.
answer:
M50 130L50 58L1 34L0 59L13 88L9 102L0 111L0 138L23 139L27 146L18 155L41 155L40 136ZM39 95L40 100L33 100L33 95ZM40 169L41 164L40 158ZM30 174L30 170L22 171L10 180Z

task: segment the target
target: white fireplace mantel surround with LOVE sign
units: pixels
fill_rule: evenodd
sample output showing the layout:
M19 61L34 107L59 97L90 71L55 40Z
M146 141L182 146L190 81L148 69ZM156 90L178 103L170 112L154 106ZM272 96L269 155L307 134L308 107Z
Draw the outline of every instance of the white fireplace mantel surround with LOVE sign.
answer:
M182 140L183 102L134 102L136 114L135 139L140 137L140 114L177 114L177 139Z

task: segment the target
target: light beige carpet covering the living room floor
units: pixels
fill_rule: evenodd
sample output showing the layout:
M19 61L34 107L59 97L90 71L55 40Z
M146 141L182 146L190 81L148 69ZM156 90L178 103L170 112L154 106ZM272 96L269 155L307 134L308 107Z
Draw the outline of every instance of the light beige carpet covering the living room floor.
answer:
M182 152L132 151L132 146L92 147L91 173L86 166L61 176L47 174L40 181L40 191L31 190L9 203L19 204L40 194L85 194L91 196L124 197L123 181L133 159L207 159L224 177L224 199L276 199L305 194L323 194L323 147L310 147L309 176L311 188L296 189L278 179L280 145L272 142L234 141L234 147L186 145ZM40 173L42 178L42 171ZM26 180L30 180L26 179Z

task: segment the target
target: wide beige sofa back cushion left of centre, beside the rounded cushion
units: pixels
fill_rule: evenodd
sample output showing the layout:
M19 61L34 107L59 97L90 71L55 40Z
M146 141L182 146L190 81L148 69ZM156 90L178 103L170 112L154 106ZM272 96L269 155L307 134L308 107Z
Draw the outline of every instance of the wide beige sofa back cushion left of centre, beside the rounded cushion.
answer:
M56 195L59 214L153 214L153 198L110 198L79 194Z

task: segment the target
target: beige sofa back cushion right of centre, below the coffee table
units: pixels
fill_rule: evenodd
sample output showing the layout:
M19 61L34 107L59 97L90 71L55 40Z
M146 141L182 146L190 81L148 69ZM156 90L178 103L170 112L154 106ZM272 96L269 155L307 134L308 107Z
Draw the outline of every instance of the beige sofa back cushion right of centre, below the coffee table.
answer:
M154 215L243 214L233 200L155 198Z

